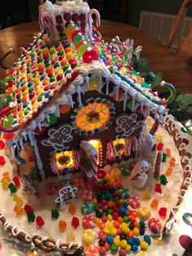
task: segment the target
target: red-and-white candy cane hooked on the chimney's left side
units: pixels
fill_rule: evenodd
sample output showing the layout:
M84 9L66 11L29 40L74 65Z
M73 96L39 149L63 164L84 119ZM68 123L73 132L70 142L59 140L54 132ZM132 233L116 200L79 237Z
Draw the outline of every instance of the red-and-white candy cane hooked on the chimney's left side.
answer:
M45 32L46 29L49 30L50 41L54 43L55 42L54 24L53 24L53 20L50 13L42 12L39 15L39 25L40 25L41 32Z

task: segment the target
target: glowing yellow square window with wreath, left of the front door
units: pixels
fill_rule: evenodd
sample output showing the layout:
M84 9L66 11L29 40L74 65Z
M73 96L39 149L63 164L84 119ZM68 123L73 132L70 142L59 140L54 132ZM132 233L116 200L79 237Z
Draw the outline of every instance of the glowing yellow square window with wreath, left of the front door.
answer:
M55 160L57 166L60 167L68 167L73 168L75 166L75 162L73 161L73 153L72 151L59 152L55 154Z

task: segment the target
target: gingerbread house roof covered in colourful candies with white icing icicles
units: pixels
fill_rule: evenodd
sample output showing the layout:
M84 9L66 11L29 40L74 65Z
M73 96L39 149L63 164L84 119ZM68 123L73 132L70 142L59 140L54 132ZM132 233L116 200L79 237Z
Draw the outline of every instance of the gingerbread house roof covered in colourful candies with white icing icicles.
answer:
M142 108L146 106L155 113L167 112L166 101L151 90L121 53L105 43L99 33L93 33L93 40L84 37L84 43L78 46L80 40L75 40L74 36L78 38L82 34L81 30L75 29L71 40L67 33L67 37L63 35L51 44L49 36L41 33L26 51L22 50L24 54L13 68L7 70L7 107L0 111L0 130L35 130L37 127L41 129L42 123L47 126L51 113L59 115L59 105L73 105L72 95L75 93L81 105L81 94L93 90L89 87L90 77L98 80L98 86L94 88L98 92L110 94L110 82L114 84L116 95L123 90L124 110L126 100L132 98L132 110L137 101Z

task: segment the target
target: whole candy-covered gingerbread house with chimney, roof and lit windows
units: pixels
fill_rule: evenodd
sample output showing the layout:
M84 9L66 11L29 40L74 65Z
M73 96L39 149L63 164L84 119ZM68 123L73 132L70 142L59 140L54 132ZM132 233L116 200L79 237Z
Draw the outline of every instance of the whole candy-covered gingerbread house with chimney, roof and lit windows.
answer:
M163 121L169 99L129 66L124 43L103 41L87 2L39 10L41 34L7 70L0 130L9 153L21 165L31 157L41 179L81 170L95 184L104 165L139 154L146 117Z

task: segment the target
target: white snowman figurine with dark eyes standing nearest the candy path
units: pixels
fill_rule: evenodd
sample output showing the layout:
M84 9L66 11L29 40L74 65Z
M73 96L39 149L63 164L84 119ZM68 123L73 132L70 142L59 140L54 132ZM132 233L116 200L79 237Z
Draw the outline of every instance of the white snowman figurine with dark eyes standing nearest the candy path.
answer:
M131 172L133 187L143 188L148 179L149 164L147 161L138 161Z

